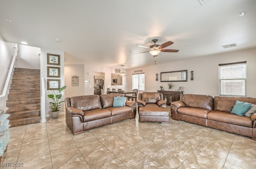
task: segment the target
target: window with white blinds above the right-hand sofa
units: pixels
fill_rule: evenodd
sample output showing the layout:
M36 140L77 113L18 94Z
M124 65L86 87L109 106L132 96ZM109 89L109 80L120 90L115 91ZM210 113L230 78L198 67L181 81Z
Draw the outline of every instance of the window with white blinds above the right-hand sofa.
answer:
M246 96L246 61L219 65L219 95Z

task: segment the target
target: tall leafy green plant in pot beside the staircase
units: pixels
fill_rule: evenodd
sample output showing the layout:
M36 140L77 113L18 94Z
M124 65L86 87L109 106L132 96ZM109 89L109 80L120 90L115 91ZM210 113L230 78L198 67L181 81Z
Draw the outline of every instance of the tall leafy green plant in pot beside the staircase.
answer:
M60 92L62 90L64 90L67 86L63 86L62 88L59 88L59 94L56 94L53 91L54 94L48 94L48 98L52 98L52 102L49 102L50 103L50 106L49 108L52 109L51 111L51 117L52 118L58 118L59 115L60 115L60 110L58 110L60 108L60 104L64 101L59 101L59 99L62 97L62 94L60 94Z

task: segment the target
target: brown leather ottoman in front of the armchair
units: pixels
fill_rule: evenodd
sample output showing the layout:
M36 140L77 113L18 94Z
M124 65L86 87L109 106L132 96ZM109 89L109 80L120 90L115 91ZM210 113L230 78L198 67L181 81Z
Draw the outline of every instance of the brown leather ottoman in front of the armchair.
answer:
M139 119L141 123L161 122L169 124L169 111L165 107L140 107Z

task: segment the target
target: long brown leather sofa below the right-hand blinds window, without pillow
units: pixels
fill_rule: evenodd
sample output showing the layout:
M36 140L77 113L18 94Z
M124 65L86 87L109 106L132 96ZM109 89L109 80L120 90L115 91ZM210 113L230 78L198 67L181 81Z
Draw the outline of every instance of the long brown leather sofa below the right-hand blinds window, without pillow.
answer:
M250 117L232 114L236 100L256 104L256 98L250 97L182 94L179 101L171 102L171 116L173 120L199 124L256 140L256 113Z

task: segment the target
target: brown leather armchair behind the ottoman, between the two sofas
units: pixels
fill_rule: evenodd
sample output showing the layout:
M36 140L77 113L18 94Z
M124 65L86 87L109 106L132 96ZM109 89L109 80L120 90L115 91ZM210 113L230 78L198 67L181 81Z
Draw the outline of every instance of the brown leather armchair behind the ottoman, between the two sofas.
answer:
M138 109L140 107L165 107L166 101L159 92L143 92L138 96Z

